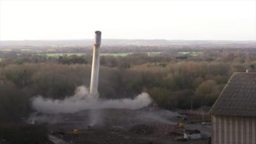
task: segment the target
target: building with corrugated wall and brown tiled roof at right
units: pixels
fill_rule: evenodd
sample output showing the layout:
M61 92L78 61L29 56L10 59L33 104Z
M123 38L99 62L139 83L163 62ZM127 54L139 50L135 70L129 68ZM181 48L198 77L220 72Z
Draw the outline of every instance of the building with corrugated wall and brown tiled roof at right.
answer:
M234 73L210 113L212 144L256 144L256 72Z

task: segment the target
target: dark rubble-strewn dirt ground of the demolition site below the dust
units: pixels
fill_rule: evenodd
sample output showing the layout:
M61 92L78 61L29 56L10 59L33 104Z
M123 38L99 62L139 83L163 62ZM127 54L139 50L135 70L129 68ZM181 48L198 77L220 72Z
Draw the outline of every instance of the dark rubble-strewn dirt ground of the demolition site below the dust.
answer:
M51 139L60 144L207 144L202 140L175 141L184 129L202 129L211 134L211 127L185 124L177 127L180 118L163 109L100 109L74 114L38 115L35 122L46 122ZM79 134L74 134L74 129Z

